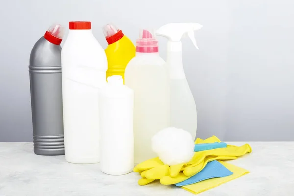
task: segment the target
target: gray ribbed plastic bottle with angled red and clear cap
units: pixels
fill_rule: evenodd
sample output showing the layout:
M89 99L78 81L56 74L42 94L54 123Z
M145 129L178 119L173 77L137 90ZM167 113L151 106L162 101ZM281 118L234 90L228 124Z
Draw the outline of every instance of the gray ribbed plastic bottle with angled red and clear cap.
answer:
M34 152L63 155L61 46L64 28L51 25L29 59Z

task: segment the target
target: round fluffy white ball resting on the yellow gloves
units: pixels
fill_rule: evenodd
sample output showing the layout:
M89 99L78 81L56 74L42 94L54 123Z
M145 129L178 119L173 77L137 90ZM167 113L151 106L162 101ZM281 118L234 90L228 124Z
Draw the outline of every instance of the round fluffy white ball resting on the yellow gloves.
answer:
M169 127L152 137L152 150L169 166L186 163L194 155L194 140L188 131Z

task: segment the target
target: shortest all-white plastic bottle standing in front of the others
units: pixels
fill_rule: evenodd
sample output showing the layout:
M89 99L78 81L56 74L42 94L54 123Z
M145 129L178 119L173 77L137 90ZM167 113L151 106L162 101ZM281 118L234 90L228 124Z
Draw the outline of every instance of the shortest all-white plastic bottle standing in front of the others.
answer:
M101 89L100 170L123 175L134 168L133 90L123 85L120 75L107 78Z

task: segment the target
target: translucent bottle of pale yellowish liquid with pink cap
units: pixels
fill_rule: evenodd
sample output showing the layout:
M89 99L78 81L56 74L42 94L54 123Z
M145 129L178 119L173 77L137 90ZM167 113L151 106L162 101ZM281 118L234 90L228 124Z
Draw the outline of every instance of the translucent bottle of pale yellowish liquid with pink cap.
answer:
M125 84L134 90L135 163L140 163L157 156L151 138L169 127L170 120L169 76L154 31L140 30L136 56L125 70Z

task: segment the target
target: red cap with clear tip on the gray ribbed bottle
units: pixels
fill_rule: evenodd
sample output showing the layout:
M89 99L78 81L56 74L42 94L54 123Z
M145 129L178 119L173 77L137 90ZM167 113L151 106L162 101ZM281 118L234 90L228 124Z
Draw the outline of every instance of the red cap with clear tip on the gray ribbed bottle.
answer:
M64 34L64 28L59 24L53 24L45 32L44 38L52 44L60 45Z

